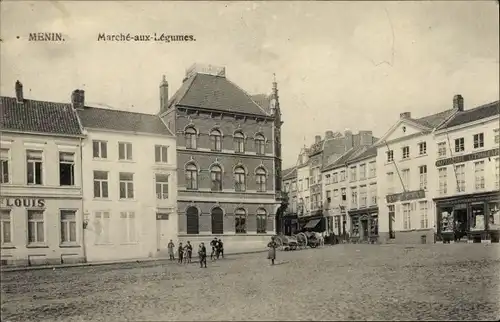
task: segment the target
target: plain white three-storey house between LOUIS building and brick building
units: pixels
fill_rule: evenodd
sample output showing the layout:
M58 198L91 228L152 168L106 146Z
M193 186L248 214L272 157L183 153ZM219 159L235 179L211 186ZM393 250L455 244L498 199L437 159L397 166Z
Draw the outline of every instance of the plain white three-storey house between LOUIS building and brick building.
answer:
M177 238L176 140L157 115L72 103L87 138L83 197L88 261L154 257Z

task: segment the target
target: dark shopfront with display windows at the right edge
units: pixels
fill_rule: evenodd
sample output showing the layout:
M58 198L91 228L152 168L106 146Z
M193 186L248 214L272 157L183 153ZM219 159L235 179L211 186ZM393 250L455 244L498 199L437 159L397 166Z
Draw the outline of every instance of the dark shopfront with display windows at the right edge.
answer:
M436 198L437 241L499 242L498 191Z

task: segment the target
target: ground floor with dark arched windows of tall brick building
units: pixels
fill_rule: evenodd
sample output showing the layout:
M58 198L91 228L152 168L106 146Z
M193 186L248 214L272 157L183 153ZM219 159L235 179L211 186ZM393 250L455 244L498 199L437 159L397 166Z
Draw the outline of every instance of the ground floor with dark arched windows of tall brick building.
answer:
M198 246L222 239L226 252L265 249L275 235L279 204L217 201L178 202L178 242ZM177 245L177 243L176 243Z

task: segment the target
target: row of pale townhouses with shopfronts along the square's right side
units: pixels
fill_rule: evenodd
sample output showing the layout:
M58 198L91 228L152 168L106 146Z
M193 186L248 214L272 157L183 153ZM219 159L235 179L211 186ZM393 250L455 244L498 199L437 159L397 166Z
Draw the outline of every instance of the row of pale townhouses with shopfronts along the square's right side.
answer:
M333 229L320 231L350 242L498 242L499 108L465 110L456 95L450 109L401 113L371 146L333 155L321 170L321 214ZM285 188L298 180L292 170Z

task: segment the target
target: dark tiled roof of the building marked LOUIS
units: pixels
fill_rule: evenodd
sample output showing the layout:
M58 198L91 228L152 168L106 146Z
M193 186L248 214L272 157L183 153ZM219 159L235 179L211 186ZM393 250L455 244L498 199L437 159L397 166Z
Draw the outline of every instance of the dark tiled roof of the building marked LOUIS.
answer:
M83 135L75 110L70 104L25 99L18 104L15 97L0 100L0 129L58 135Z

